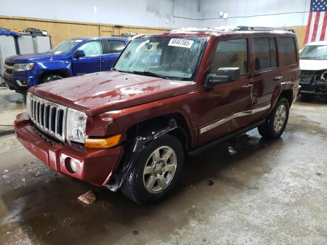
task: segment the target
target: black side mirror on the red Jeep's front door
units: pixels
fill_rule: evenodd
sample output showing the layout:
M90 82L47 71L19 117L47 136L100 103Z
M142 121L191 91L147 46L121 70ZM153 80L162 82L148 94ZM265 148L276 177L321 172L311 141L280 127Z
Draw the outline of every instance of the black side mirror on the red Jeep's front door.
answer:
M204 88L213 88L217 84L229 83L240 79L241 70L239 67L222 67L215 74L208 74Z

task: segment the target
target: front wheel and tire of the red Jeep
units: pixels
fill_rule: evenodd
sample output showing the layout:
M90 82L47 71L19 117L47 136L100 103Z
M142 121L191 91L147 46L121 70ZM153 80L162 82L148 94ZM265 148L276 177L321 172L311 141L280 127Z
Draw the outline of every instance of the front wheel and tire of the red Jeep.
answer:
M159 151L161 161L156 164L153 154L157 150ZM167 162L162 161L165 153L168 152L171 155ZM184 151L180 141L174 136L163 135L146 146L136 161L129 178L122 185L121 190L126 197L138 204L159 202L165 199L174 189L182 173L183 161ZM168 166L171 171L167 170ZM147 172L151 174L145 174ZM161 180L167 183L166 187L165 184L161 185L163 183ZM147 185L148 189L146 188Z

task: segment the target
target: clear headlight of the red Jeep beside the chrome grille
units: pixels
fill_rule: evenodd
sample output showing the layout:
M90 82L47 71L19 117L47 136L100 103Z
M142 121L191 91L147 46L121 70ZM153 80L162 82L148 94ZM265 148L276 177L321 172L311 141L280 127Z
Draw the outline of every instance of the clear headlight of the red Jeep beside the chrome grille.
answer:
M86 114L71 108L67 110L66 137L80 143L85 141Z

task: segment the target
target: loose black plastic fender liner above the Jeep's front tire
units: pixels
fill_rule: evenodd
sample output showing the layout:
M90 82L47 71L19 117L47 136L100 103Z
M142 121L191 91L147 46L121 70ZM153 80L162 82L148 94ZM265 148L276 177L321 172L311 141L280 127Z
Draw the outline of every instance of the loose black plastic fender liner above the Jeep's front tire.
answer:
M146 148L147 143L177 128L176 120L171 118L168 121L168 125L152 125L151 128L149 127L149 129L142 132L142 135L136 136L133 140L127 142L125 145L125 154L118 169L113 173L110 181L104 186L112 191L118 190L129 177L135 162Z

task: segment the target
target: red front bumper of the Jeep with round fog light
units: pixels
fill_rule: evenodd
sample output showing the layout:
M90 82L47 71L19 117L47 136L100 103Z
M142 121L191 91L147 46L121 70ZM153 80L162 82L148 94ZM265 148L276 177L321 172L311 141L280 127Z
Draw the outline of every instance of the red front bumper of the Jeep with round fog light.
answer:
M55 141L38 131L26 112L17 115L15 134L28 151L55 171L96 186L109 182L124 154L123 146L87 149L80 144ZM71 159L76 163L76 171L69 165Z

